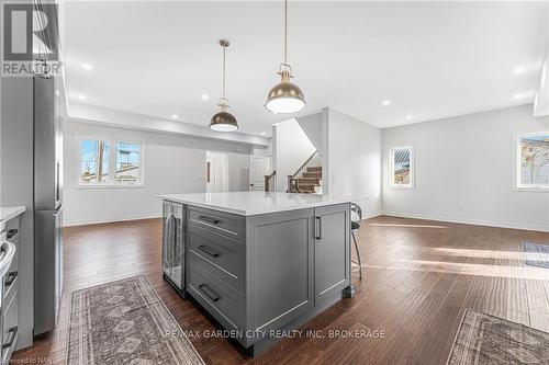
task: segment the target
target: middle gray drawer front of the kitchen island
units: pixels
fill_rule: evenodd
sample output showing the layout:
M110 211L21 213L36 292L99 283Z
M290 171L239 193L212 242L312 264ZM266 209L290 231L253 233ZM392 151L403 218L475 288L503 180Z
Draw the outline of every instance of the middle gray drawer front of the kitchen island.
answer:
M189 225L188 255L219 278L244 293L245 244Z

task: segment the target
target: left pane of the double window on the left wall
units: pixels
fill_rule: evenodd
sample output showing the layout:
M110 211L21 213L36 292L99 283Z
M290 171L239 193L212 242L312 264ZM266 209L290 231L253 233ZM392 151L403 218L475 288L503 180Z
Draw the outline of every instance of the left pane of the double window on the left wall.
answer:
M109 142L85 139L80 141L80 183L109 183Z

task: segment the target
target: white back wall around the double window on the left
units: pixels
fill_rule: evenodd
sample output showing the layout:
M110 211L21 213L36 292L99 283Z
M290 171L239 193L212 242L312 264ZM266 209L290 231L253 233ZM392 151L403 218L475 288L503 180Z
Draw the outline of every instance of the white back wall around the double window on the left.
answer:
M144 141L144 187L78 186L79 137ZM205 191L208 150L228 152L228 189L247 186L248 146L225 141L170 136L96 124L67 122L64 130L64 206L65 225L116 221L160 216L158 194Z

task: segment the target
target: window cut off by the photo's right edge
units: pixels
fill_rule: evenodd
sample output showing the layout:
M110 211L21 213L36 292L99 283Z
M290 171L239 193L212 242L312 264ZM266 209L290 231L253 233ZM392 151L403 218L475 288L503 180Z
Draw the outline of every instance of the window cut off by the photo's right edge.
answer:
M549 132L518 137L516 185L526 190L549 190Z

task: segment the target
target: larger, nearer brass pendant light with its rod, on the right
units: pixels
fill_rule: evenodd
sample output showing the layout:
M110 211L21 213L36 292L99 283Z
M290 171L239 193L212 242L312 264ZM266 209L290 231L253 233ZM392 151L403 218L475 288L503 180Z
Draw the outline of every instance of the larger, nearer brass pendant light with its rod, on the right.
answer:
M284 0L284 61L280 65L278 75L281 82L269 91L265 107L274 114L300 112L306 103L301 89L290 82L292 68L288 65L288 0Z

